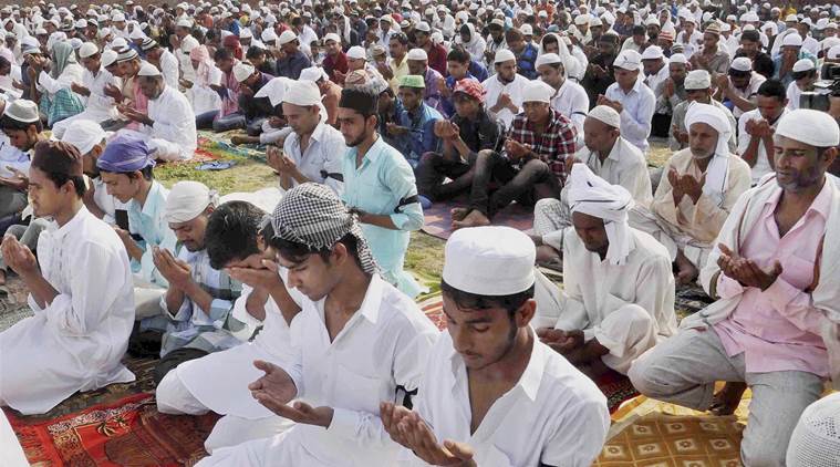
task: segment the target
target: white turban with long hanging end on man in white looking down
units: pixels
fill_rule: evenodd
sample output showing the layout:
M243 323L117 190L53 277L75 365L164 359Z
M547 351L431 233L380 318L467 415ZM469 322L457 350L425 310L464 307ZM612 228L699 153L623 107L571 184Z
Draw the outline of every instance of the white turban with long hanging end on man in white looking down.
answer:
M621 185L593 174L585 164L574 164L569 176L569 208L603 219L610 247L606 260L610 264L624 264L630 255L632 232L628 224L628 210L633 197Z

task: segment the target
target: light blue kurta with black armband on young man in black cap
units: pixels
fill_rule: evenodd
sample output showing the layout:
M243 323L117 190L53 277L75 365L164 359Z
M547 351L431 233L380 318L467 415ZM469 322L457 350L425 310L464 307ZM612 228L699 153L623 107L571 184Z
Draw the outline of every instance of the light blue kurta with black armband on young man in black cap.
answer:
M408 232L423 227L423 208L416 200L397 208L401 200L417 195L412 167L382 136L364 155L360 167L356 167L356 154L357 149L351 147L344 155L342 199L349 207L391 217L400 230L362 224L362 231L382 277L408 297L416 297L421 287L403 270L403 263Z

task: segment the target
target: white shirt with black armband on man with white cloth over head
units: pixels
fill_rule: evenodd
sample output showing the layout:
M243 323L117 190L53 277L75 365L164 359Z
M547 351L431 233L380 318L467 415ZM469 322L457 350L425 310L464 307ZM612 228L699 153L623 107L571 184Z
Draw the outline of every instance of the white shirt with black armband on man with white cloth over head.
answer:
M339 196L344 191L343 178L339 180L330 174L341 175L346 152L344 136L324 122L315 126L303 154L300 152L300 137L297 133L290 134L283 142L283 154L294 160L301 174L312 181L326 185Z

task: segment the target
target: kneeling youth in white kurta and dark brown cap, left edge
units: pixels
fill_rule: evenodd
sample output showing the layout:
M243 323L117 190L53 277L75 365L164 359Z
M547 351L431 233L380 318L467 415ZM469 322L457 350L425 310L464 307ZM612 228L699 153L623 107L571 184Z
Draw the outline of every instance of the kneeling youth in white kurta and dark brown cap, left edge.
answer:
M38 143L29 185L35 216L54 220L38 239L39 260L14 237L3 239L3 259L25 282L35 315L0 332L0 406L25 415L77 391L134 381L120 363L134 322L128 256L84 208L79 151Z

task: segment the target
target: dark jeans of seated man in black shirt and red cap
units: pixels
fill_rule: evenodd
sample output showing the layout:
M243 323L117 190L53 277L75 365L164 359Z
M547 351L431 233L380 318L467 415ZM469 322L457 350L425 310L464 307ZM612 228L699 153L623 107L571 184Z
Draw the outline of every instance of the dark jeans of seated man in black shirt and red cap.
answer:
M469 155L469 162L450 160L438 153L426 153L415 168L417 193L432 201L445 201L469 190L473 185L473 164L476 154ZM452 181L444 184L444 178Z

